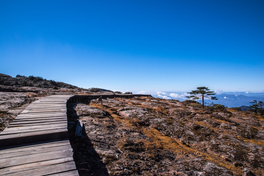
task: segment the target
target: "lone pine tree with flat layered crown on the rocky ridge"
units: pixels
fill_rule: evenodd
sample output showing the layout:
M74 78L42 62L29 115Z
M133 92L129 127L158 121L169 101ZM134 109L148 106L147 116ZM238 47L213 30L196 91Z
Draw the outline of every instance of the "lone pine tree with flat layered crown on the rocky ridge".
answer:
M209 91L209 90L210 89L206 87L198 87L196 90L192 90L191 92L188 92L192 95L186 97L193 100L202 99L202 108L204 108L204 98L217 100L216 97L211 96L211 95L215 95L216 93L213 93L214 91Z

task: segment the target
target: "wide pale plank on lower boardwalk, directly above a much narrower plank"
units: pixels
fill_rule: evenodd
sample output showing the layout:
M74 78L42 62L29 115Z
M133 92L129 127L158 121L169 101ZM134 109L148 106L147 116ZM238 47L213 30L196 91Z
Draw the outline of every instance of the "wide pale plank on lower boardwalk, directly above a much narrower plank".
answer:
M72 149L66 149L61 151L52 151L41 154L30 154L19 157L9 157L0 160L0 168L17 166L27 163L34 163L39 161L47 161L58 158L65 158L72 156Z

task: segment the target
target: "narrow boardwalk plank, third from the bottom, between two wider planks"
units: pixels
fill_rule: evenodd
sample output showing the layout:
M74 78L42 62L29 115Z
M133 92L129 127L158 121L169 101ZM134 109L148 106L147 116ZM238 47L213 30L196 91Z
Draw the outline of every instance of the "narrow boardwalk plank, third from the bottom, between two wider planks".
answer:
M40 161L40 162L34 162L34 163L29 163L29 164L22 164L18 166L11 166L11 167L0 169L0 176L5 176L11 173L19 174L18 172L37 169L37 168L41 168L41 167L52 165L52 164L65 163L68 161L73 161L73 158L70 156L70 157L53 159L53 160L48 160L48 161ZM75 176L78 176L78 175L75 175Z

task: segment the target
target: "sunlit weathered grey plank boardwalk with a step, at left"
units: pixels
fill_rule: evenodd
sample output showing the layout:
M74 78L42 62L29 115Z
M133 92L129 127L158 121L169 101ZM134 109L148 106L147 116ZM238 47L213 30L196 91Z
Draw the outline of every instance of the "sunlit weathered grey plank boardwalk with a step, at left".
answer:
M37 100L0 132L0 176L78 176L67 138L66 102Z

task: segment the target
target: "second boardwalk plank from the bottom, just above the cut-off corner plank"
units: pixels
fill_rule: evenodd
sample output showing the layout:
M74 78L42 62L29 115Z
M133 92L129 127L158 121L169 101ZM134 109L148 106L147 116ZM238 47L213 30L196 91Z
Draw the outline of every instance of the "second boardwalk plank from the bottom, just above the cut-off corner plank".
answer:
M68 161L60 164L52 164L45 167L40 167L37 169L31 169L26 171L21 171L17 173L6 174L5 176L46 176L50 174L57 174L66 171L76 170L75 162Z

